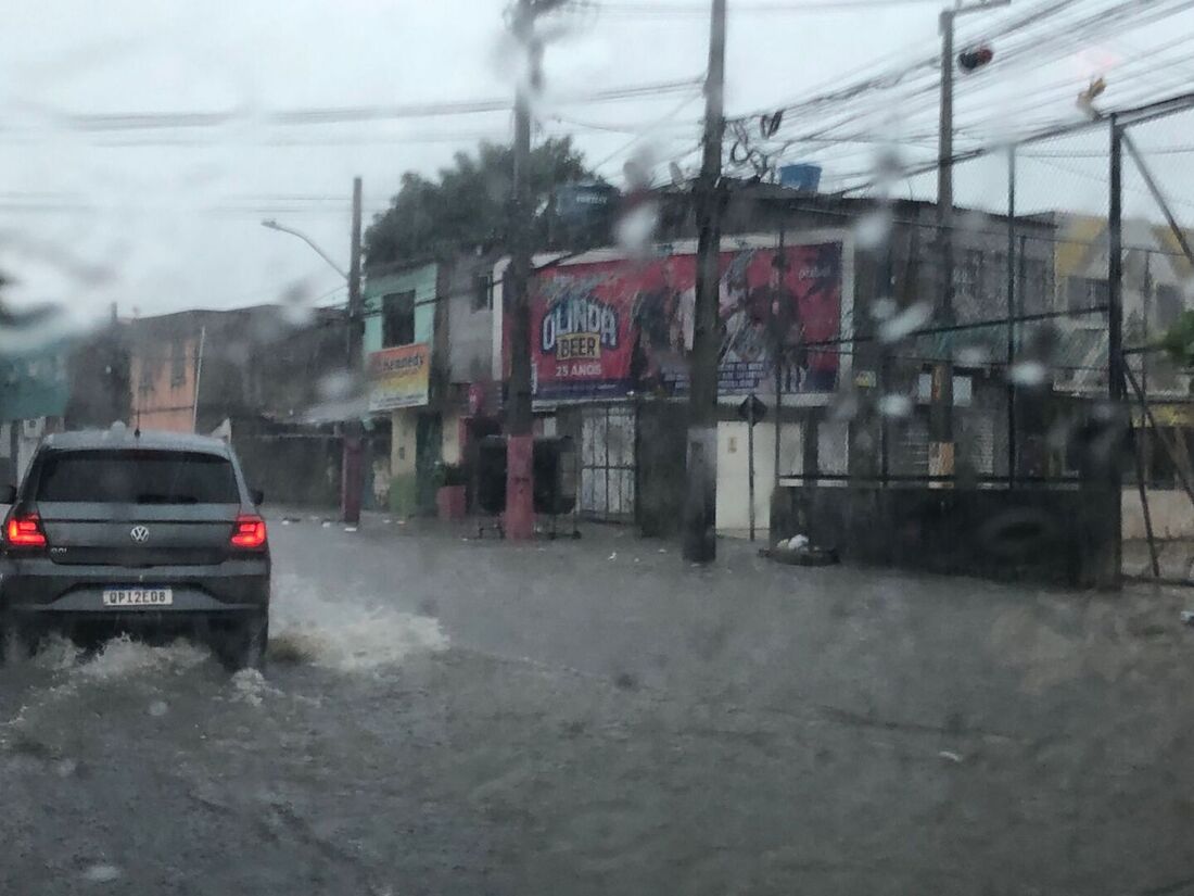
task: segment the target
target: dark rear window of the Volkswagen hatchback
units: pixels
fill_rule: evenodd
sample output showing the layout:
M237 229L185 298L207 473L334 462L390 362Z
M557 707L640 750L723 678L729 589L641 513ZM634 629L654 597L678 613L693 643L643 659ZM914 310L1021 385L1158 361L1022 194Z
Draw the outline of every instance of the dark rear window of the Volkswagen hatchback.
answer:
M50 452L38 501L128 504L235 504L236 477L226 458L193 452Z

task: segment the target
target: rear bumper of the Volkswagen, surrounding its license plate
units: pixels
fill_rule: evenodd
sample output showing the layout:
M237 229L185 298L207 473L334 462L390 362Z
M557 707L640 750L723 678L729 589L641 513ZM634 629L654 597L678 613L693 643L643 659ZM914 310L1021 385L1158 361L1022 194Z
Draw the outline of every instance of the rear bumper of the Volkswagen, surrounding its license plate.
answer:
M168 607L105 607L105 588L170 588ZM244 614L270 603L269 557L211 566L76 566L49 558L8 559L0 569L0 610L70 616L161 618Z

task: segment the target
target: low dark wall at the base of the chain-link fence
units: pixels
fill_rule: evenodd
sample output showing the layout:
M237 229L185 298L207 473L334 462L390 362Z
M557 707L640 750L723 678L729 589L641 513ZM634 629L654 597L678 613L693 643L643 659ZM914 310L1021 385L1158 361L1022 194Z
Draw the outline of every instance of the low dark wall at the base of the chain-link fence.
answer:
M781 487L773 536L806 533L844 561L1110 588L1120 538L1112 490Z

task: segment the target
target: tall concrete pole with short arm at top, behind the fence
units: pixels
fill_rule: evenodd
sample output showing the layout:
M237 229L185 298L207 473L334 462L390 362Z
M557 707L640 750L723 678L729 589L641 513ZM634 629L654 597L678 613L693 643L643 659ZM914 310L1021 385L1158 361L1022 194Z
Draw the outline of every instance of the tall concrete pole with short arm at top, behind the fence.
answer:
M1011 0L983 0L941 11L941 121L937 125L937 241L941 250L940 324L954 323L954 19L970 12L1009 6ZM954 472L954 367L950 360L933 367L929 413L929 475Z

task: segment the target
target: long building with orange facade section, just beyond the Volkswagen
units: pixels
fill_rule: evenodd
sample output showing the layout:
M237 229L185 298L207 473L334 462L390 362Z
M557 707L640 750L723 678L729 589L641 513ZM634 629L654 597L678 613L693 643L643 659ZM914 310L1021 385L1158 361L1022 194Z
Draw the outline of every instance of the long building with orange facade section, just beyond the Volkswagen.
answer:
M275 305L133 319L129 424L220 435L271 501L334 505L340 441L321 409L350 379L346 323L341 308L300 320Z

